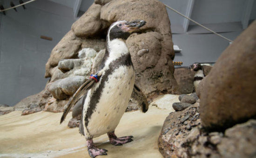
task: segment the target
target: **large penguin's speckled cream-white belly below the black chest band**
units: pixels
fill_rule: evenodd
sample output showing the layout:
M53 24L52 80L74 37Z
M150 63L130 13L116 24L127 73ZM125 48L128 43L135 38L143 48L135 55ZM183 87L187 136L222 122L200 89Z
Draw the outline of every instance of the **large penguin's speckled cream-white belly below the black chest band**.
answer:
M132 66L120 66L108 75L99 102L88 121L90 135L97 137L115 130L127 108L134 82Z

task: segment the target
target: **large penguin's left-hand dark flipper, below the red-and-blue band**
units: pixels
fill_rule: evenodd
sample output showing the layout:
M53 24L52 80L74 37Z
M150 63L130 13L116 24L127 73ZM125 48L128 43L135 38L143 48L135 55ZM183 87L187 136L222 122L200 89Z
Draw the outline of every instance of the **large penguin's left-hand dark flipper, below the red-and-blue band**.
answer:
M67 116L67 113L70 111L72 105L74 105L79 99L81 99L84 94L87 93L87 91L89 89L92 88L92 86L94 86L95 84L95 80L90 78L88 79L84 84L82 84L82 86L80 86L78 88L78 90L76 90L76 92L73 94L73 96L69 99L67 105L66 105L66 109L64 110L62 117L61 117L61 123L64 121L64 119Z

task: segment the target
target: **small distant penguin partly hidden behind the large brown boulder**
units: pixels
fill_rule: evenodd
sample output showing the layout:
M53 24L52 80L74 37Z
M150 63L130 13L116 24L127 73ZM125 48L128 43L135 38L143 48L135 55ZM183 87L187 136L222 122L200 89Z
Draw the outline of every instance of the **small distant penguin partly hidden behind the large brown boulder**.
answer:
M196 88L201 82L201 80L205 77L203 67L199 63L194 63L193 65L189 66L190 70L195 71L195 76L194 76L194 91L196 92Z

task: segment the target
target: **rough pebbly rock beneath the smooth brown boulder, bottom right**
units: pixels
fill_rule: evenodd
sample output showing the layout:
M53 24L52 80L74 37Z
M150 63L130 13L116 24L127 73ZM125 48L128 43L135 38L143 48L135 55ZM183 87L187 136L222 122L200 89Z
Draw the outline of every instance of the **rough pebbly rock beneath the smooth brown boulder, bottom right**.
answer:
M199 103L171 112L158 138L164 158L252 158L256 153L256 120L222 132L205 132Z

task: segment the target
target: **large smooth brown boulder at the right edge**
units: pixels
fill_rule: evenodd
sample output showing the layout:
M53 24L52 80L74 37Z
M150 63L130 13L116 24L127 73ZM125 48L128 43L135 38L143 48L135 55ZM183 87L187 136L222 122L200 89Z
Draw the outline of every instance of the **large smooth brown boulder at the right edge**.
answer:
M221 54L201 92L201 119L222 129L256 116L256 21Z

